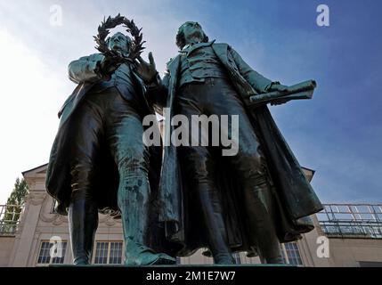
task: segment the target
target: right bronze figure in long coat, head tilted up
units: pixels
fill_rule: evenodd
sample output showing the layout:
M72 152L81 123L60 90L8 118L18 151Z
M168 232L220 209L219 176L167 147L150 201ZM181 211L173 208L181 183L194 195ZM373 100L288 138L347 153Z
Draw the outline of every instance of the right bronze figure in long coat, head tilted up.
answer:
M179 28L176 45L163 79L151 53L150 62L139 58L147 97L171 118L239 115L239 151L223 157L221 147L164 148L158 204L167 239L181 245L178 256L207 247L215 264L233 264L237 251L280 264L280 242L310 232L309 215L322 206L267 107L252 108L249 98L289 94L289 86L251 69L231 45L209 41L198 22Z

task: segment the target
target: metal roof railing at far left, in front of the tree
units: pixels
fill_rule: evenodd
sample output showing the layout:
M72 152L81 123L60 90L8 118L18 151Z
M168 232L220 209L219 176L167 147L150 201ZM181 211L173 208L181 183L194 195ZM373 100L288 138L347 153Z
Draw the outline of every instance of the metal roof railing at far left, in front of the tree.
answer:
M20 224L23 206L0 205L0 236L12 236Z

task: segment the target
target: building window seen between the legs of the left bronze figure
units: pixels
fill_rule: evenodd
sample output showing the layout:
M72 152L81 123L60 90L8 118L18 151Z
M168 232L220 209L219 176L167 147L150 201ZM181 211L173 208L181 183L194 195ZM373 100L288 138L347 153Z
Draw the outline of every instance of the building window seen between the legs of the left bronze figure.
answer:
M122 241L98 241L95 245L94 265L122 264Z

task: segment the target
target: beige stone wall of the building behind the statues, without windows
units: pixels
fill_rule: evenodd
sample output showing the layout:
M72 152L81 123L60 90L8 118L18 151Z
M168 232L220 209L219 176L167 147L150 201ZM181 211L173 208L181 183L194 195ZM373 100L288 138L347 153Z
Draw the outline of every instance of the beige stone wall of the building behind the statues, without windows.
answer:
M68 218L53 214L53 199L45 192L45 167L24 174L30 193L21 216L20 231L15 237L0 237L0 266L37 266L37 256L42 240L59 236L68 241L65 264L72 260L69 248ZM316 216L312 232L297 242L300 256L305 266L359 266L360 261L382 262L382 240L329 239L329 258L317 256L317 239L325 234L321 231ZM123 240L120 220L100 215L100 223L95 240ZM189 257L182 257L183 265L212 264L211 257L203 256L202 249ZM260 264L258 257L248 258L240 253L243 264Z

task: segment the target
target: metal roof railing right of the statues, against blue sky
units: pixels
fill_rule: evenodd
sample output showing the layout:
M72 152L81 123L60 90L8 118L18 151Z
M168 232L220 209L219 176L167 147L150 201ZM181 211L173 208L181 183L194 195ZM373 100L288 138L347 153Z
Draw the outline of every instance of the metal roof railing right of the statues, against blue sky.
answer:
M382 239L382 205L324 204L317 214L322 231L332 238Z

